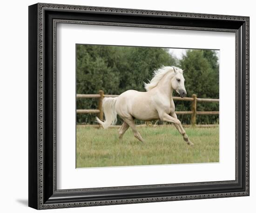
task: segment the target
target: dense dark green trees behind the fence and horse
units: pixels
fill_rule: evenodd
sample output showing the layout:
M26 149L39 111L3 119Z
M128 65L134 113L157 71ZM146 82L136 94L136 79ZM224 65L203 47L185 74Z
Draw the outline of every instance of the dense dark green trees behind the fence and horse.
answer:
M161 66L178 66L184 71L188 96L218 98L219 65L215 51L188 50L182 60L173 57L166 48L118 47L102 45L76 46L76 93L121 94L134 89L145 91L143 82L152 78ZM177 94L175 94L177 95ZM78 99L77 109L96 109L97 99ZM189 111L191 102L176 101L176 111ZM200 103L198 111L218 111L216 103ZM189 115L180 115L190 123ZM95 114L77 114L77 123L94 124ZM137 121L139 122L139 121ZM197 123L217 123L218 116L197 116ZM118 121L121 123L121 120Z

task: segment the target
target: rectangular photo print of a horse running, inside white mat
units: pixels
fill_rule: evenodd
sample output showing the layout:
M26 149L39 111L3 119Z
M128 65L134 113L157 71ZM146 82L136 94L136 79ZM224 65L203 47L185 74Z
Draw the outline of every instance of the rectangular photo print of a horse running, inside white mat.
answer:
M76 44L76 168L218 163L219 56Z

